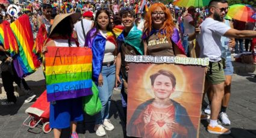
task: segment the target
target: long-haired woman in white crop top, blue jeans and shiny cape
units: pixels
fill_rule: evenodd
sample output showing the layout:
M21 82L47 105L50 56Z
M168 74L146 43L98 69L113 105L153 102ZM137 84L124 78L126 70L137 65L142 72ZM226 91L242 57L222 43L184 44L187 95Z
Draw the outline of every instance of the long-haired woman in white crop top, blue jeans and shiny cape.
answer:
M105 130L113 130L109 120L111 95L116 81L115 51L116 38L111 29L110 14L99 10L95 17L95 28L87 33L86 46L92 49L93 80L99 89L102 110L96 115L95 131L98 136L105 136Z

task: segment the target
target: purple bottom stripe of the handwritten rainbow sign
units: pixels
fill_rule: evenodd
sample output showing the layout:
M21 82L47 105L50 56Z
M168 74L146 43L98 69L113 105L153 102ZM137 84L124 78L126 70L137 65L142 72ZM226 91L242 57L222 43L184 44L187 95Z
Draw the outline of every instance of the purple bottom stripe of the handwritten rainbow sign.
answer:
M84 97L92 94L93 94L92 88L62 91L62 92L47 94L47 101L56 101L56 100L63 100L63 99L69 99L69 98Z

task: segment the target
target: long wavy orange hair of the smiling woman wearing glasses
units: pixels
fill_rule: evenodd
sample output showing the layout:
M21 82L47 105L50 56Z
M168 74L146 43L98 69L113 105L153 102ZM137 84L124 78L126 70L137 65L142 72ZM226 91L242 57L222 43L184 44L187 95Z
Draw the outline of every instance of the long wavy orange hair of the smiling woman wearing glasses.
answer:
M166 20L164 21L163 26L160 28L160 30L163 31L164 34L162 35L161 33L158 33L158 38L166 37L167 40L170 42L170 37L172 37L173 29L175 28L175 23L173 23L172 14L170 13L170 10L162 3L155 3L151 5L151 7L149 8L149 11L146 13L145 17L143 34L149 37L153 24L151 15L159 7L164 11Z

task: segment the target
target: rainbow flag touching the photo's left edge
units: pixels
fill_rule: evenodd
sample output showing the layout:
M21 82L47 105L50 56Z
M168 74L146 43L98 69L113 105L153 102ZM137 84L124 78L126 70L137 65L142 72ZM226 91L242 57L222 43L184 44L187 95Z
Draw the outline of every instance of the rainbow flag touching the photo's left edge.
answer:
M10 23L6 20L0 24L0 41L2 44L4 44L4 49L6 49L7 52L11 54L11 56L14 56L18 53L19 48L16 38L10 28Z

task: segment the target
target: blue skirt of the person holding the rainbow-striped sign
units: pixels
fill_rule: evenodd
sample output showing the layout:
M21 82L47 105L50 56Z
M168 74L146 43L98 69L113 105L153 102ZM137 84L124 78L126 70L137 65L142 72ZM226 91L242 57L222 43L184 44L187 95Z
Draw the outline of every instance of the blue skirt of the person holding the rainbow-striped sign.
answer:
M67 128L70 122L83 121L82 98L58 100L50 104L50 127Z

